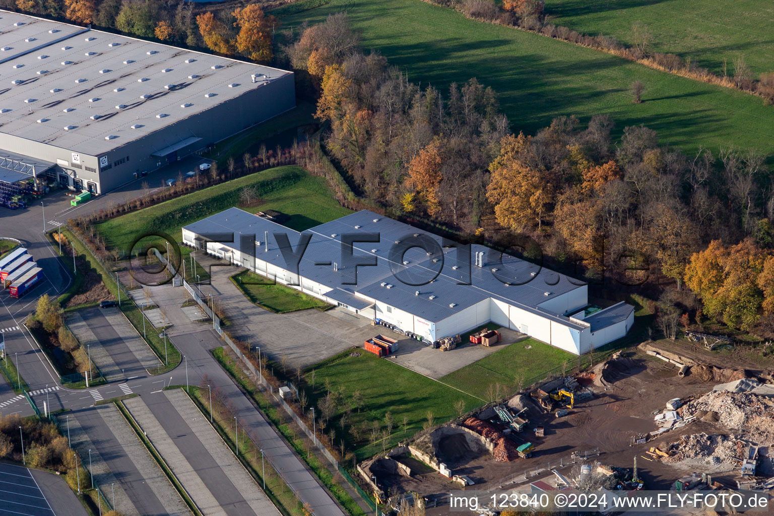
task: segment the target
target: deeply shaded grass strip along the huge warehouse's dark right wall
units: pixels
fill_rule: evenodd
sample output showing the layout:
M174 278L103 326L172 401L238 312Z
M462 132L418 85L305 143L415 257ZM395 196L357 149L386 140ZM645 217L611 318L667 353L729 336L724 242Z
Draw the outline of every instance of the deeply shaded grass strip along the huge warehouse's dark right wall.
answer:
M316 122L314 111L314 104L300 101L296 104L296 108L216 143L210 152L204 154L204 157L217 159L221 170L226 169L228 158L234 158L236 162L241 163L245 152L251 152L253 156L258 155L258 147L262 140L285 131L295 130L301 125L314 124Z

